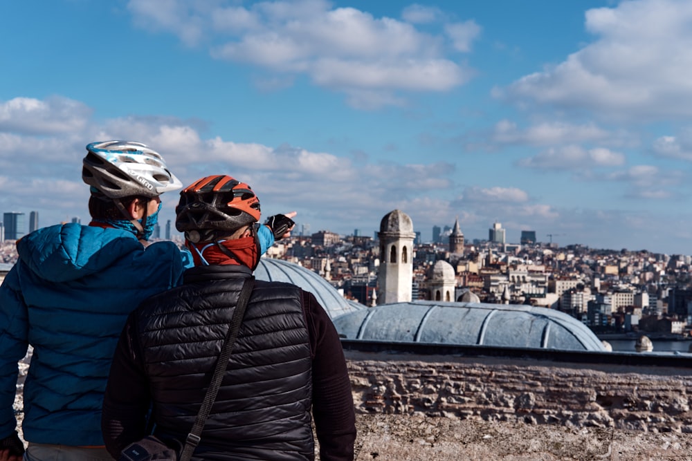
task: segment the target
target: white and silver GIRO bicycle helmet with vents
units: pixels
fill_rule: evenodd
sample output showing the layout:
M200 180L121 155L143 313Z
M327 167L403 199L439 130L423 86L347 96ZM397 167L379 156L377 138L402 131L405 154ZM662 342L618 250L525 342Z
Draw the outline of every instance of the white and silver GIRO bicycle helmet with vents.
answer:
M141 142L92 142L86 151L82 180L108 198L154 198L183 187L161 154Z

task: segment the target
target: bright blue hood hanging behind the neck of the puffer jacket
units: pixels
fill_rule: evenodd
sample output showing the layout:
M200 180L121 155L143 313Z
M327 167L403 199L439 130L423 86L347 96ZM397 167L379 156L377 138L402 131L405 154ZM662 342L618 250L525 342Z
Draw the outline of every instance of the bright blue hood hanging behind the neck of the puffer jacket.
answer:
M130 232L76 223L43 227L17 241L19 260L51 282L100 272L123 253L144 251Z

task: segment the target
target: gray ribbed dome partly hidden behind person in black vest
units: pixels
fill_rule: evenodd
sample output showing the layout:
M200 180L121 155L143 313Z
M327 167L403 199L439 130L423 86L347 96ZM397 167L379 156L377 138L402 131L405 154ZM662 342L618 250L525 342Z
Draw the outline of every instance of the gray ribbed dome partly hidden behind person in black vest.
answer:
M340 315L355 312L364 305L347 301L318 274L307 270L305 267L289 261L272 258L260 258L260 264L255 269L257 280L288 282L298 285L300 288L315 295L317 301L329 314L331 319Z

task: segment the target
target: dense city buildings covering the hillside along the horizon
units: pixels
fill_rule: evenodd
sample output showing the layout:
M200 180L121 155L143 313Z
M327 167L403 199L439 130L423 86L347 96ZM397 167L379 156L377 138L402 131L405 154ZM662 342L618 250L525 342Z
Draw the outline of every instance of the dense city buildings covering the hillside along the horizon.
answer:
M37 211L28 220L21 212L3 213L0 263L16 262L15 241L39 228ZM80 218L73 218L80 223ZM502 223L489 225L486 238L464 238L459 219L434 224L432 241L415 231L412 252L413 300L475 301L534 305L560 310L600 335L645 333L657 339L689 336L692 323L691 256L646 250L560 247L547 234L524 230L508 243ZM170 220L156 225L153 241L182 244ZM347 236L329 230L311 233L297 225L290 238L271 247L267 256L297 263L316 272L346 299L367 306L386 302L379 293L381 258L377 233L360 229ZM389 300L391 301L391 300Z

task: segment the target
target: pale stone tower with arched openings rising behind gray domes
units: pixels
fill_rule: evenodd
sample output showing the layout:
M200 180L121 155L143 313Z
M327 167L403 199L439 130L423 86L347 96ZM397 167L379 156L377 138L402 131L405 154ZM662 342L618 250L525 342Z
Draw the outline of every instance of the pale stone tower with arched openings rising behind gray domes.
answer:
M413 281L413 221L398 209L385 214L377 233L380 241L379 304L411 301Z

